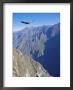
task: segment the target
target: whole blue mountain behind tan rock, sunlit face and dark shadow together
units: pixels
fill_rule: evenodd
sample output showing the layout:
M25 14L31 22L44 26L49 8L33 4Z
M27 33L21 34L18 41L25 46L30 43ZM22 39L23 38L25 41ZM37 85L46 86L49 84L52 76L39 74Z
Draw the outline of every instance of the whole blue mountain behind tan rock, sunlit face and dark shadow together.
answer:
M52 76L60 76L60 23L14 32L13 48L41 63Z

